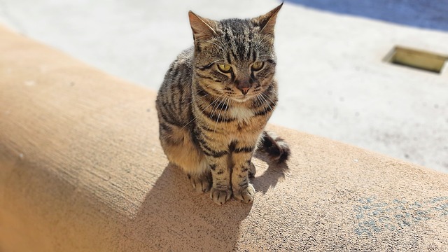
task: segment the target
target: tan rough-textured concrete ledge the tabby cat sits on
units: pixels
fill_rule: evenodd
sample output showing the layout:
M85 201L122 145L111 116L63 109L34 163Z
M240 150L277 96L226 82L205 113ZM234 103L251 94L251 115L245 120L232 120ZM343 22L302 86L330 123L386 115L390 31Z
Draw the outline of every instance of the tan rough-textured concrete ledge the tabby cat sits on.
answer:
M218 207L168 165L155 92L0 38L0 251L448 250L447 174L272 127L288 167L257 155L255 202Z

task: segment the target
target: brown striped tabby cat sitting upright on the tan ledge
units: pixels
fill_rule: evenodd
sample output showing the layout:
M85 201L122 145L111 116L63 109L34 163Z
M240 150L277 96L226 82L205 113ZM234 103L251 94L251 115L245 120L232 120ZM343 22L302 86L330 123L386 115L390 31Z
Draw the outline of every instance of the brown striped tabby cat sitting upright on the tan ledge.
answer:
M281 6L252 19L221 21L188 13L194 46L169 66L156 107L160 143L197 191L253 202L252 155L260 145L278 162L288 145L264 128L277 104L274 25Z

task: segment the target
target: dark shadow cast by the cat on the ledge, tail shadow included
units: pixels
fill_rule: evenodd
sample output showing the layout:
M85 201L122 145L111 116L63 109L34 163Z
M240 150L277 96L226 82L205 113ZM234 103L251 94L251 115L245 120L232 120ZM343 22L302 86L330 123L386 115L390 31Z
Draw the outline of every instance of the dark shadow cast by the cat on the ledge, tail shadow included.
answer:
M269 165L251 179L255 190L265 194L284 178L288 167L270 162L262 153L255 158ZM255 195L255 201L256 197L262 195ZM126 237L141 242L145 251L232 251L244 237L239 227L252 206L233 199L219 206L209 193L196 193L179 167L167 165L137 214L127 221Z

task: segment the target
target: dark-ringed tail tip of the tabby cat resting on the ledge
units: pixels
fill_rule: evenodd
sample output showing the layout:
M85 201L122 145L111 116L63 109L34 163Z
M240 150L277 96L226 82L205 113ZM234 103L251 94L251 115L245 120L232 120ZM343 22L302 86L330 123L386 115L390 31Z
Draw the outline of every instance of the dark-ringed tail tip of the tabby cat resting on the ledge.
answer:
M288 144L274 132L262 133L259 148L265 151L271 160L279 163L286 162L291 154Z

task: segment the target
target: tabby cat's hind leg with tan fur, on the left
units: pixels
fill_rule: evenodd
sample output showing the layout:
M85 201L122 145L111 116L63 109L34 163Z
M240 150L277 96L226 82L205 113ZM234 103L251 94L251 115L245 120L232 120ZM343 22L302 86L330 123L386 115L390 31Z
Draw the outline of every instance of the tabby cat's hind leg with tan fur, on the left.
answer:
M160 125L160 143L169 162L186 172L197 192L211 188L211 172L204 153L195 146L191 134L181 127Z

